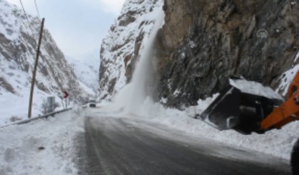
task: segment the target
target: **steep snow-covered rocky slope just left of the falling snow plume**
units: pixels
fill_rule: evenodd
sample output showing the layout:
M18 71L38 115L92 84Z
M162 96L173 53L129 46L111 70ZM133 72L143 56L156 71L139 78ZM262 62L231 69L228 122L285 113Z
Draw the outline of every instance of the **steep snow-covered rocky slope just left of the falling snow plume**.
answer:
M131 80L143 41L153 27L156 11L162 6L162 0L125 1L101 45L99 99L110 100Z

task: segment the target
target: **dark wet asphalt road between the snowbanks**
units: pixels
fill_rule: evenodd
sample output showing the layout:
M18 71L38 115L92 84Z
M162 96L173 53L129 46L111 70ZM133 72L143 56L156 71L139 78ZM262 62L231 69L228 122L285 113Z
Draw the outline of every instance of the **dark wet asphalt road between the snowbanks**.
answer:
M78 174L283 175L289 165L268 154L192 136L162 124L86 117L78 135Z

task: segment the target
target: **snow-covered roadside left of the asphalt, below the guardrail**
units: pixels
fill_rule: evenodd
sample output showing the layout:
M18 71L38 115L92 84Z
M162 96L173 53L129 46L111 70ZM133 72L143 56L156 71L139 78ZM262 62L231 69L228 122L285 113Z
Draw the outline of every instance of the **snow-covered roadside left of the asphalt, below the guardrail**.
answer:
M77 174L73 145L83 132L83 117L74 111L0 132L0 174Z

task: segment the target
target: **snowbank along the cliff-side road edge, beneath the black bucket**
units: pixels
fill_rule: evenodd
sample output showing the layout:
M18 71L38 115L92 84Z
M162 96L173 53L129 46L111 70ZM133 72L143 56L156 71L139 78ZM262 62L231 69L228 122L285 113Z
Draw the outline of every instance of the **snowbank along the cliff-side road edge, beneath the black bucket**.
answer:
M142 117L218 142L225 142L227 144L237 145L238 147L245 147L258 152L271 154L275 157L290 159L293 144L295 144L299 136L299 122L290 123L287 127L283 127L280 130L274 129L266 134L253 133L251 135L243 135L234 130L219 131L201 120L188 117L195 113L203 112L216 97L217 95L214 95L213 98L199 100L198 106L189 107L185 111L166 109L163 105L153 103L150 99L147 99L143 104L144 113Z

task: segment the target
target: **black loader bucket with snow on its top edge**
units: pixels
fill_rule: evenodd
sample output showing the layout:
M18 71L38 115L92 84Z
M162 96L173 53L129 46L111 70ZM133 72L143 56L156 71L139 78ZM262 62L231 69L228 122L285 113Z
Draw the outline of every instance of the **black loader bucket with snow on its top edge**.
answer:
M263 133L260 122L283 103L283 98L260 83L238 78L229 81L230 85L201 113L201 120L220 130Z

